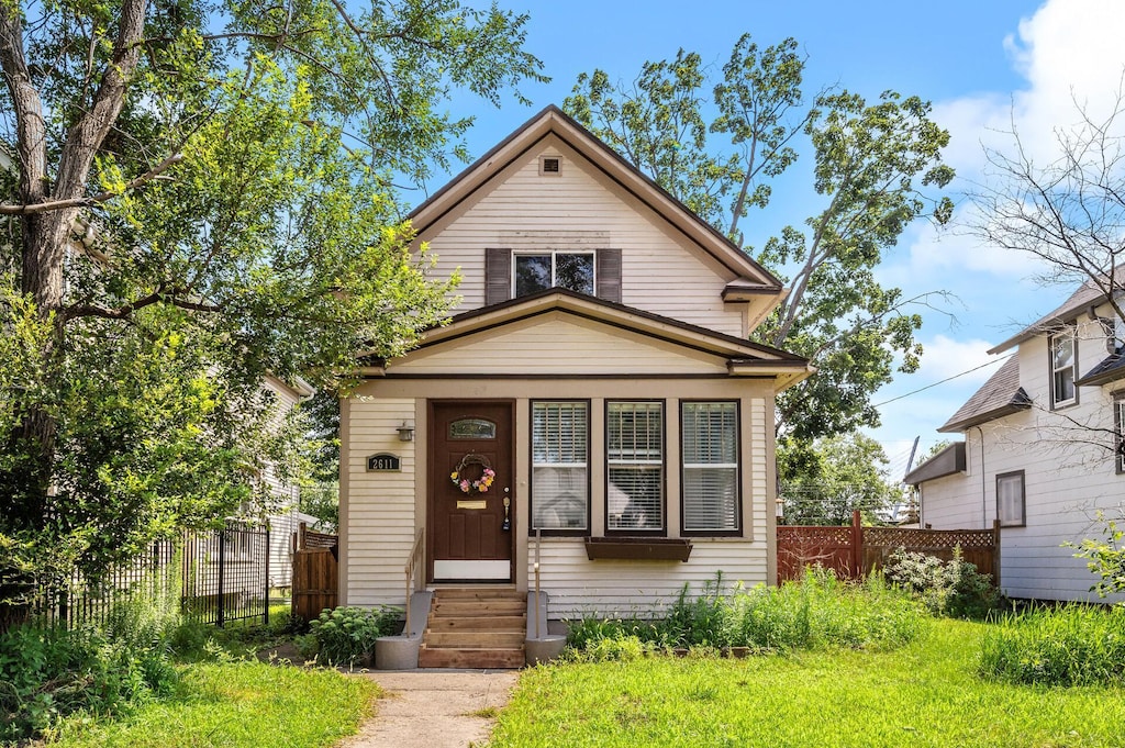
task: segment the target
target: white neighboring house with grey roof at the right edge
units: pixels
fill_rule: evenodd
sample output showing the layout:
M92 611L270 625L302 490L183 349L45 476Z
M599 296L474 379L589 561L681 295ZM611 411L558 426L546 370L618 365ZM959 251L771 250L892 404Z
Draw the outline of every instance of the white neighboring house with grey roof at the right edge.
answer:
M1100 535L1098 510L1125 497L1120 322L1084 283L990 353L1010 353L938 431L964 441L918 466L922 526L1000 521L1000 584L1012 597L1092 600L1097 580L1064 542Z

